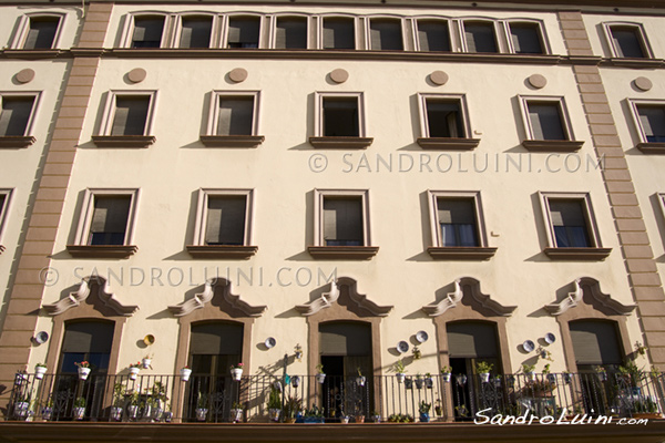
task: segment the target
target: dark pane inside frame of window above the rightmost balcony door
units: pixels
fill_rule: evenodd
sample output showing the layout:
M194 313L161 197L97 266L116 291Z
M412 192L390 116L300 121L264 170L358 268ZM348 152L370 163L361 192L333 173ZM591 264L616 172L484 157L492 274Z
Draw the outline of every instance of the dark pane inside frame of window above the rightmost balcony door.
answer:
M548 203L557 248L593 246L586 226L583 200L550 198Z

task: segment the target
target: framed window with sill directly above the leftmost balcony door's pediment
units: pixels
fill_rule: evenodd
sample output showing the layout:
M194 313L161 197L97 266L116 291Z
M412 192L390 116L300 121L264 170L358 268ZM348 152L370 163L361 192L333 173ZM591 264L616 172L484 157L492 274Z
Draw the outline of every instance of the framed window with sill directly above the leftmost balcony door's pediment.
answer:
M68 245L74 257L126 258L132 246L139 189L86 189L76 243Z

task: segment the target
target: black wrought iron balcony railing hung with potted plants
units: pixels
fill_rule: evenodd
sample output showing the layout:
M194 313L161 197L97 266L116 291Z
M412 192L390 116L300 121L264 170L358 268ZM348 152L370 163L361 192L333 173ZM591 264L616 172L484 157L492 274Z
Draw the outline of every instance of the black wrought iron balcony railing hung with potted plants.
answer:
M40 378L41 377L41 378ZM268 400L272 404L267 404ZM659 416L664 375L108 375L17 374L8 420L110 422L484 421ZM421 412L428 412L421 415Z

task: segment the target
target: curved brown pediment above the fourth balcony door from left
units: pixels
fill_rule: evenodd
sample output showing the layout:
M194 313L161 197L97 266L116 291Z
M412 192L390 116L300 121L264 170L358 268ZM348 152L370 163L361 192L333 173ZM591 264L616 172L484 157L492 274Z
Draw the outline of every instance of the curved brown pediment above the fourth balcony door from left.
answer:
M464 290L467 289L467 290ZM456 308L462 302L464 295L470 298L469 305L474 308L485 309L499 317L509 317L518 308L516 306L503 306L500 302L482 293L480 281L473 277L462 277L454 280L454 290L449 292L441 301L434 305L423 306L422 310L429 317L439 317L447 310Z

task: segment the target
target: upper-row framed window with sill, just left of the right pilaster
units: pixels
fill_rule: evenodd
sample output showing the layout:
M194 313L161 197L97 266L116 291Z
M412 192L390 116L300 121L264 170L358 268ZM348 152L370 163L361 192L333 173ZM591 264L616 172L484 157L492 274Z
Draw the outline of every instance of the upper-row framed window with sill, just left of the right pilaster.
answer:
M522 96L520 100L528 150L575 151L583 142L574 141L573 128L563 97Z

